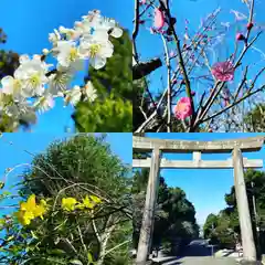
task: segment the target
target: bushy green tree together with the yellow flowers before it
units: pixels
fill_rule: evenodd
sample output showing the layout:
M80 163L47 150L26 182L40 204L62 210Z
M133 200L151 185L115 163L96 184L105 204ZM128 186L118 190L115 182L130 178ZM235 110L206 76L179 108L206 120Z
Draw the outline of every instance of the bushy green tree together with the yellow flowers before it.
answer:
M21 201L12 203L3 183L22 166ZM9 168L0 199L14 210L0 221L0 264L130 264L127 173L104 138L84 135Z

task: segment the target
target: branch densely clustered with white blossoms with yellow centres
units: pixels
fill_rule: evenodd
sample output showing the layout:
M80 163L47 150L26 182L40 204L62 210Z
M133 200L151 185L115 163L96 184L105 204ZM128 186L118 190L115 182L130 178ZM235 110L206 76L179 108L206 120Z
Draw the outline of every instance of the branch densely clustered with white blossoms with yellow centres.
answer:
M106 66L114 55L112 41L123 33L115 20L102 17L97 10L76 21L73 29L54 30L49 35L50 50L43 49L42 54L32 57L21 55L13 73L1 76L1 117L10 117L15 129L19 120L26 121L36 112L53 108L57 97L63 97L65 105L87 102L92 109L98 102L104 105L112 95L95 88L88 68L98 71ZM84 85L73 85L77 72L84 73ZM131 108L130 103L127 105Z

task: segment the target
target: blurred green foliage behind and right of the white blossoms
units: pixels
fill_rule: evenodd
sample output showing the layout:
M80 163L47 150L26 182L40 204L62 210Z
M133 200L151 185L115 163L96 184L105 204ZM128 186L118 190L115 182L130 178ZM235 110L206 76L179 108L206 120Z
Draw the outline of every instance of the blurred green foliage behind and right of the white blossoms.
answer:
M119 39L112 38L114 55L102 70L89 68L88 75L99 94L91 103L80 103L73 114L78 131L131 131L132 74L131 40L124 31Z

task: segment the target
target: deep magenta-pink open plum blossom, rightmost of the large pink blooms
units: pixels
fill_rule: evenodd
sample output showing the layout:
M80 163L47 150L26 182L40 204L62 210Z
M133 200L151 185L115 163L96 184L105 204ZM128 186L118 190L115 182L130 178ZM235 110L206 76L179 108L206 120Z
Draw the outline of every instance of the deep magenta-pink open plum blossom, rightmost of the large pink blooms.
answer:
M234 78L234 66L229 61L215 63L212 66L212 74L219 81L232 81Z

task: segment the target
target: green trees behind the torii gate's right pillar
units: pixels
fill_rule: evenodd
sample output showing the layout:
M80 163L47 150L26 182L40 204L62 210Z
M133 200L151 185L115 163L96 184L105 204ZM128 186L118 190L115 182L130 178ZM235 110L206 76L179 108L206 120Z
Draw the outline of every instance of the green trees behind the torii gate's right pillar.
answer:
M248 169L245 171L244 177L246 182L246 191L253 222L254 236L257 236L255 229L257 225L261 230L259 243L263 245L265 242L265 173L263 171ZM255 220L253 205L254 198L257 220ZM235 245L235 242L241 239L234 187L231 188L230 193L225 194L224 199L227 208L222 210L218 215L210 214L208 216L206 222L203 226L204 237L211 239L223 247L233 247Z

